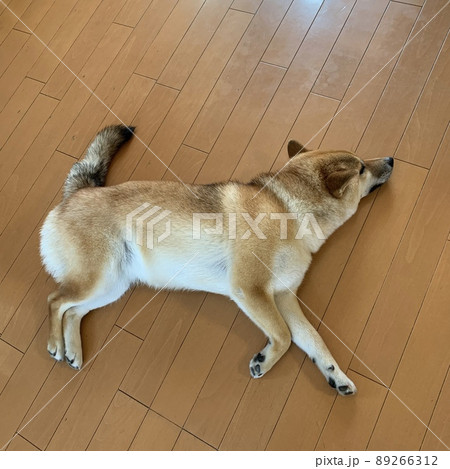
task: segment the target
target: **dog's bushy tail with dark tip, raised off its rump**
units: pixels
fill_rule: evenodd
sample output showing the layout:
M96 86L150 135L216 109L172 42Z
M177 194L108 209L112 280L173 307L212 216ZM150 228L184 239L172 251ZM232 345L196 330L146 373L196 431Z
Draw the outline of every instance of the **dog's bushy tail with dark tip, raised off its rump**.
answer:
M135 127L111 125L102 129L89 145L85 157L75 163L64 183L64 199L83 187L104 186L114 155L134 134Z

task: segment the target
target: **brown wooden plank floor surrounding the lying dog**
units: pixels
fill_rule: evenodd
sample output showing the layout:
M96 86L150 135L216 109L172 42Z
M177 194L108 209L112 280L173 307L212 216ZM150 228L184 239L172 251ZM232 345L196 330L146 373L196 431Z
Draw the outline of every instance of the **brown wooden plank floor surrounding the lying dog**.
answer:
M1 2L0 447L448 449L450 6L423 3ZM294 346L251 380L262 333L201 292L135 288L84 320L81 372L50 358L39 228L118 118L151 152L134 139L108 184L248 180L289 138L395 156L299 290L355 397Z

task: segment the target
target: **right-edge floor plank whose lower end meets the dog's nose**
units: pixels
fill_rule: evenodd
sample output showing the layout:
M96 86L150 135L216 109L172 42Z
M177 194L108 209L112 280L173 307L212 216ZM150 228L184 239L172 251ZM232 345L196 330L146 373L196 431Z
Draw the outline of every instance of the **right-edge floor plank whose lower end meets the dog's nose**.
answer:
M429 168L448 124L450 39L445 41L396 151L404 161Z

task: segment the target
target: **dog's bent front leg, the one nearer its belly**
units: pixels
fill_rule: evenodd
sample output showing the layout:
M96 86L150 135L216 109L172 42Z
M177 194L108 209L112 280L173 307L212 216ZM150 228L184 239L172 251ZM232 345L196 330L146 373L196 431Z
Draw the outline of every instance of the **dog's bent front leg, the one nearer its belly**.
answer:
M250 360L250 374L261 378L286 353L291 333L273 295L262 288L239 288L233 297L244 313L268 337L267 345Z

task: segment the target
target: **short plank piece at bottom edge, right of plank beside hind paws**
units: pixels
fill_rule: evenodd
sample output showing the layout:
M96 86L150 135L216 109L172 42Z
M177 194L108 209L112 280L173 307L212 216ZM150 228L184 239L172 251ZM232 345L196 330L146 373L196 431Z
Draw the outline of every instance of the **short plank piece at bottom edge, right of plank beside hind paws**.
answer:
M126 451L146 413L147 407L118 391L87 449L90 451Z

